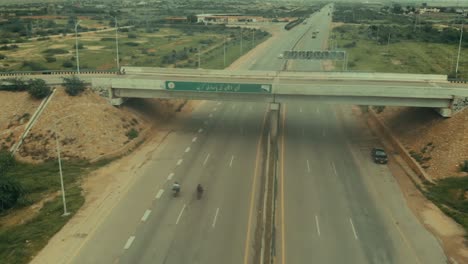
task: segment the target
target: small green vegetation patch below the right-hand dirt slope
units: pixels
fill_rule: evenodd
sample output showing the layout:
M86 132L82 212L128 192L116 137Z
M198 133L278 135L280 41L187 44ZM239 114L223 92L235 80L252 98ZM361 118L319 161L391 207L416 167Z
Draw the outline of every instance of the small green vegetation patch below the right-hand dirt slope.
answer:
M428 185L424 192L445 214L468 231L468 177L452 177Z

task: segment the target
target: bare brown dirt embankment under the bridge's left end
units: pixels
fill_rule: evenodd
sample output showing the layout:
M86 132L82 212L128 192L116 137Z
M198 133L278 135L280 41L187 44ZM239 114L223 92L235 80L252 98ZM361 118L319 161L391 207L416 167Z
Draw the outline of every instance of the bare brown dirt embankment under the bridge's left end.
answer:
M0 92L0 146L11 147L18 141L40 101L27 93ZM87 90L71 97L58 89L17 153L27 162L55 159L55 129L64 159L93 160L116 153L158 122L165 122L185 106L183 100L134 100L122 107ZM57 124L55 126L55 124Z

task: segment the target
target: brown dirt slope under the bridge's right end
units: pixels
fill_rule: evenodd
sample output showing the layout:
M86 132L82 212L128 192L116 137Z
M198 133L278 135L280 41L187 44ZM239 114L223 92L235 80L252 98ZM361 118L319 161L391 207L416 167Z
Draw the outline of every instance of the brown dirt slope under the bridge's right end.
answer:
M385 107L378 117L434 179L468 176L468 110L451 118L429 108Z

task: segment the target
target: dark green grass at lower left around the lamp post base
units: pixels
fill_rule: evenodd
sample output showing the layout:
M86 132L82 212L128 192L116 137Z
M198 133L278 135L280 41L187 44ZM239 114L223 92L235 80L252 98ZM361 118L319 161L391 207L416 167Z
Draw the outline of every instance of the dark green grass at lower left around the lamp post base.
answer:
M62 216L62 197L57 195L60 190L60 178L56 161L39 165L18 164L9 172L10 176L20 181L26 195L21 198L15 208L7 211L3 216L20 214L23 212L22 209L27 209L45 197L50 197L50 199L34 217L28 219L31 212L27 211L27 214L21 217L22 221L25 217L27 219L23 223L7 223L0 216L0 223L2 223L0 225L1 263L28 263L31 256L37 254L83 205L84 197L80 187L82 177L105 163L63 162L67 209L71 213L66 217Z

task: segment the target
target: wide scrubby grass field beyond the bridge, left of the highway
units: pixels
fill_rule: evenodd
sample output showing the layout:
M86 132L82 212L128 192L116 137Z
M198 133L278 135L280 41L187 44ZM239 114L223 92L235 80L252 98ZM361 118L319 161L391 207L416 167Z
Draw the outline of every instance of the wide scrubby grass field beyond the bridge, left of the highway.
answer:
M133 35L133 36L132 36ZM185 49L201 49L203 68L222 68L224 62L218 57L223 52L222 43L225 34L218 32L202 32L193 35L183 33L175 28L161 28L155 33L132 30L131 33L119 33L120 65L167 67L163 57L183 52ZM259 44L267 37L256 40ZM240 56L238 40L228 38L227 65ZM252 47L251 41L244 41L244 53ZM78 38L80 69L115 70L116 43L115 31L82 33ZM0 61L0 69L4 71L40 71L40 70L76 70L75 37L69 34L65 37L48 40L36 40L20 44L18 49L0 51L6 58ZM47 49L62 49L65 53L47 55ZM237 51L236 51L237 50ZM53 57L55 61L47 61ZM214 61L213 61L214 60ZM179 67L197 67L198 52L189 52L188 59L175 63ZM66 65L68 64L68 65Z

